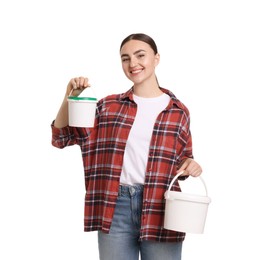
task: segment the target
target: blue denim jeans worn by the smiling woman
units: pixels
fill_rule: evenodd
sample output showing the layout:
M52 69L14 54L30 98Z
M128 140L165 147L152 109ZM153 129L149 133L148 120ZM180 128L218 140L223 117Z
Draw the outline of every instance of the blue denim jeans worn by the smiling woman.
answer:
M143 186L120 186L110 233L98 232L100 260L181 260L182 242L139 241Z

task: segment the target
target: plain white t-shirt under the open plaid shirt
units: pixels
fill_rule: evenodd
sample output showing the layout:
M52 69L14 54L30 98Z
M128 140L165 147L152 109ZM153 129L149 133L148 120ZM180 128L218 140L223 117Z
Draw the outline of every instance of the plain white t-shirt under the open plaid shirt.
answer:
M133 95L137 113L126 143L120 183L144 184L146 164L153 127L157 116L169 104L170 96L163 93L154 98Z

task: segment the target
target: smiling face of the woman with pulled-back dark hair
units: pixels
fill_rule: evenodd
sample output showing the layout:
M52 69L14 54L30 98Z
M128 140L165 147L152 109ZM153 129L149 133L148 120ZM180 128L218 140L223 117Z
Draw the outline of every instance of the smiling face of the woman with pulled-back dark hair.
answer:
M159 54L154 54L151 46L139 40L126 42L120 51L122 69L126 77L134 84L155 80L155 67L159 63Z

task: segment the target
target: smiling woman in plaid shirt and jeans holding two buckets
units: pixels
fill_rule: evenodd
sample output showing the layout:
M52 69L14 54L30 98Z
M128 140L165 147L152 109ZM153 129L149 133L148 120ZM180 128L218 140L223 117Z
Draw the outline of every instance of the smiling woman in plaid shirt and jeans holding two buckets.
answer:
M158 84L160 55L154 40L132 34L120 46L122 69L133 83L127 92L97 104L94 128L68 126L67 96L89 87L70 80L52 123L52 144L78 144L85 172L85 231L98 231L100 259L181 259L185 233L166 230L164 192L181 171L199 176L193 160L189 111ZM180 190L178 182L173 190Z

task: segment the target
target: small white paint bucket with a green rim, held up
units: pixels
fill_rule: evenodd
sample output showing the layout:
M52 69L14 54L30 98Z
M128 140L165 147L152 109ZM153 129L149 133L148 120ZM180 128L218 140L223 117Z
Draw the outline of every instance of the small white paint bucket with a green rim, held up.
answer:
M89 90L87 91L87 89ZM83 96L83 92L85 92L85 96ZM97 98L94 93L91 93L91 87L87 87L86 91L82 91L79 96L71 96L71 93L68 96L69 126L94 127Z

